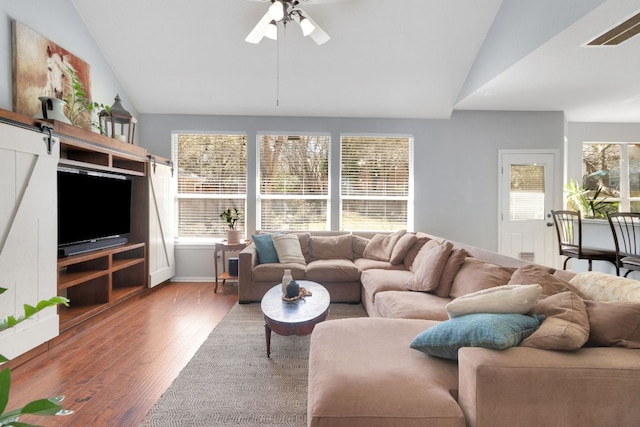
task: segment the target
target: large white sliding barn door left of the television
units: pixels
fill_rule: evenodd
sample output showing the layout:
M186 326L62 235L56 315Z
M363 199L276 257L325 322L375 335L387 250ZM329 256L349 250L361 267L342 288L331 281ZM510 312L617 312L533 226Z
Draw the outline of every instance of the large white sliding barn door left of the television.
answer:
M57 187L60 144L0 123L0 318L57 295ZM0 354L15 358L58 335L55 307L0 332Z

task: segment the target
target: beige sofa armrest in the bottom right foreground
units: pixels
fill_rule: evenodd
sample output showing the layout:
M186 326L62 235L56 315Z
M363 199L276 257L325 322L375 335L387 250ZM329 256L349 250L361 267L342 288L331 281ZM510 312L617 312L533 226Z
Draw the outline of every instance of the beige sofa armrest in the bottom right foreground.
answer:
M640 419L640 350L459 351L467 426L612 426Z

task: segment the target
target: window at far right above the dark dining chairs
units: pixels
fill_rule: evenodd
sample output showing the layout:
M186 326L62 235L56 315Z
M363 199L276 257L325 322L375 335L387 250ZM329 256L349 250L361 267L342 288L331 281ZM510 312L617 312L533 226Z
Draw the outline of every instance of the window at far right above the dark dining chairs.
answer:
M603 212L640 212L640 144L584 143L582 183Z

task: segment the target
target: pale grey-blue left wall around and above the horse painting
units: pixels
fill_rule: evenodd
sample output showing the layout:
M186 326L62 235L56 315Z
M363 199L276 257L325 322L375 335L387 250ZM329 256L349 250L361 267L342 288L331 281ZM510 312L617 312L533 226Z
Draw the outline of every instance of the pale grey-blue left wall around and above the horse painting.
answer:
M108 7L108 5L105 5ZM138 111L68 0L0 0L0 108L13 111L11 21L17 20L81 58L91 67L93 100L122 104L134 116Z

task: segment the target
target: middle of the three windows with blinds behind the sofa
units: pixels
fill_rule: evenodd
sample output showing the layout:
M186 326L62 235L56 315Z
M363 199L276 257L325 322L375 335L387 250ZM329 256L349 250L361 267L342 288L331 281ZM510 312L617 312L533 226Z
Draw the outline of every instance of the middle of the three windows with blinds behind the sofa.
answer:
M262 135L258 140L258 228L328 229L330 137Z

